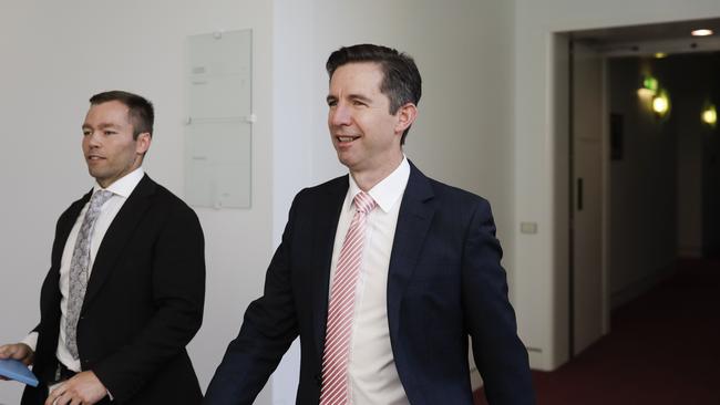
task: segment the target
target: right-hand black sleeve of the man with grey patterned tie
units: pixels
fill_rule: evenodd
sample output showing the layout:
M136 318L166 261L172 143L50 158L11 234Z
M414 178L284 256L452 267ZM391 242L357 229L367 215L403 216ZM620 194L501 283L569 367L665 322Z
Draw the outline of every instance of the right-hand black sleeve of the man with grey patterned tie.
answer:
M203 322L205 242L195 212L185 205L169 214L153 247L155 312L144 329L92 371L115 401L126 402L183 353Z

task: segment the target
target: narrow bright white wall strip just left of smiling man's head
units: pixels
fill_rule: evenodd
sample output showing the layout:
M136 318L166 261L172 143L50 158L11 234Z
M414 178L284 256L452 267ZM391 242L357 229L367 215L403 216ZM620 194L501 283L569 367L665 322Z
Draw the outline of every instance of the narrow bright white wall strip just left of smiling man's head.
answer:
M279 245L292 197L312 185L313 114L322 100L313 100L316 72L311 1L274 1L272 43L272 240ZM296 340L272 375L272 404L295 404L300 350Z

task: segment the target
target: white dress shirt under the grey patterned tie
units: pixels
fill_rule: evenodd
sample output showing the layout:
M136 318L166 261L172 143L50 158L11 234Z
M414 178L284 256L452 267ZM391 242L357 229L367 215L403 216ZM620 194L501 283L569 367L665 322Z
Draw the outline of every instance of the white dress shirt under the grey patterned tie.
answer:
M103 204L103 206L100 208L100 216L97 217L95 221L95 226L93 229L93 233L90 239L90 263L89 263L89 270L88 270L88 277L90 277L90 272L92 271L93 263L95 262L95 255L97 255L97 249L100 248L100 245L103 240L103 237L105 236L105 232L107 231L107 228L110 228L110 225L112 224L113 219L115 219L115 216L117 215L117 211L120 211L120 208L125 204L127 200L127 197L133 193L140 180L143 178L145 175L145 172L143 170L142 167L136 168L135 170L128 173L124 177L115 180L113 184L111 184L106 190L112 191L113 196ZM93 194L97 190L101 190L102 188L95 184L93 187ZM72 370L74 372L80 372L81 366L80 366L80 360L73 359L72 354L70 354L70 351L68 350L68 345L65 343L66 336L65 336L65 322L66 322L66 316L65 313L68 311L68 295L70 291L70 262L72 260L72 252L75 248L75 240L78 239L78 233L80 232L80 227L82 225L83 218L85 218L85 211L88 211L88 207L90 206L90 201L85 204L83 209L80 211L80 215L78 216L78 220L75 221L75 225L72 227L72 230L70 231L70 235L68 236L68 241L65 241L65 248L62 251L62 259L60 261L60 293L62 294L61 301L60 301L60 336L58 339L58 351L56 351L56 356L58 360L64 364L69 370ZM35 350L35 346L38 345L38 332L32 332L30 333L23 341L22 343L25 343L29 345L33 351Z

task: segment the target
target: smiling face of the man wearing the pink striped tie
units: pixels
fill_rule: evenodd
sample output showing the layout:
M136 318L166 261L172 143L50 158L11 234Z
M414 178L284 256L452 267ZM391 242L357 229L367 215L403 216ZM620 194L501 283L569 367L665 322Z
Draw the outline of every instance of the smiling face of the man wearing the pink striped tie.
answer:
M330 137L340 163L356 174L391 170L402 160L404 126L400 111L390 114L390 100L380 92L382 79L371 62L344 64L330 79Z

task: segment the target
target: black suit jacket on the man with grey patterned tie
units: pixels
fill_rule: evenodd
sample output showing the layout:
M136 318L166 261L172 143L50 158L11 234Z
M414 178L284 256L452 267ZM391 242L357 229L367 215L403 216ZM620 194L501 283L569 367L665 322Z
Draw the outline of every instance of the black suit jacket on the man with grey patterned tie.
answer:
M33 371L52 378L60 330L60 260L91 193L58 220L51 268L40 295ZM195 212L144 176L105 233L78 322L82 370L92 370L116 404L198 404L202 392L185 345L203 319L205 258ZM41 404L28 386L22 404ZM107 398L103 403L109 403Z

